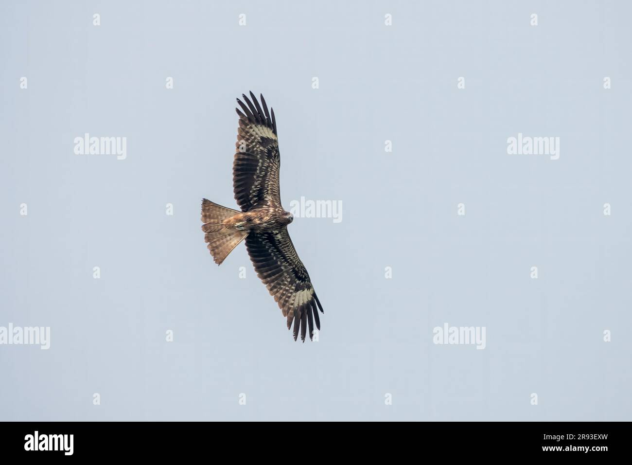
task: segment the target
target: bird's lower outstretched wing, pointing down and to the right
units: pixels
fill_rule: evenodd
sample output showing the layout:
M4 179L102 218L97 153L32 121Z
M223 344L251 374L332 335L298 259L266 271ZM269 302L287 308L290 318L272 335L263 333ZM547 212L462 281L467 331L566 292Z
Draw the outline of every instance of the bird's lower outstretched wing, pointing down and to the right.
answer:
M305 342L308 327L311 339L314 323L320 330L318 309L321 312L323 309L310 275L289 239L288 228L274 232L252 231L246 236L246 249L257 276L287 317L288 330L294 321L294 340L300 330L301 340Z

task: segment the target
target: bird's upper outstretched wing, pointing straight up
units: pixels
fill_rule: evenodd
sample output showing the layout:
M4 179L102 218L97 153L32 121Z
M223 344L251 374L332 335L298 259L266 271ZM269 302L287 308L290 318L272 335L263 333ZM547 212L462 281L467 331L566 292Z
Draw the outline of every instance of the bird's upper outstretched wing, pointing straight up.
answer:
M239 115L239 129L233 161L233 189L241 211L261 206L265 201L281 205L279 195L279 141L274 110L271 113L261 96L261 105L250 92L243 94Z

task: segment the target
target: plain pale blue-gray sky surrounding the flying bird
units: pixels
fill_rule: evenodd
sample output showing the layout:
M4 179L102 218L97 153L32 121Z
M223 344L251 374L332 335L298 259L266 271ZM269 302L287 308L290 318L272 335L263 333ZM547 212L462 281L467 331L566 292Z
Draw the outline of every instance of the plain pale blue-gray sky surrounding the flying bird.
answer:
M50 348L0 345L0 418L631 419L631 13L3 2L0 326L49 326ZM317 343L293 342L243 245L218 268L200 230L202 197L236 206L248 90L275 109L284 206L342 202L289 226ZM126 158L75 154L85 133ZM518 133L559 137L559 159L507 154ZM485 349L434 344L446 323Z

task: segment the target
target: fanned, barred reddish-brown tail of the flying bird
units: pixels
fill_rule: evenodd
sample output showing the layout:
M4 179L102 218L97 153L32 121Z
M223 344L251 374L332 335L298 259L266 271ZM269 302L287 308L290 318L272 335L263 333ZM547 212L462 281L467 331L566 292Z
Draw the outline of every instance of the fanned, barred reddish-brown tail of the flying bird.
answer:
M248 235L248 232L234 229L232 226L224 226L222 221L240 213L231 208L222 207L210 200L202 200L202 231L205 232L204 240L207 242L210 254L218 265L228 254Z

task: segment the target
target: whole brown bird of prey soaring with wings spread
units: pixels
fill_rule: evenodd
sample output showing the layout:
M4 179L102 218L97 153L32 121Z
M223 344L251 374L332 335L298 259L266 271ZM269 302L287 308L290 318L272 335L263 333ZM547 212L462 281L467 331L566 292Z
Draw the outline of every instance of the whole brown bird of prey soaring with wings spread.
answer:
M202 199L202 231L215 263L221 264L242 241L281 313L287 318L288 330L294 323L294 340L301 333L305 342L313 326L320 330L320 301L310 275L289 239L288 225L294 216L281 206L279 195L279 140L274 110L264 96L250 92L250 99L237 99L239 115L236 151L233 161L234 197L241 211L222 207Z

